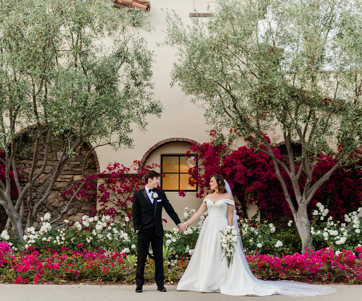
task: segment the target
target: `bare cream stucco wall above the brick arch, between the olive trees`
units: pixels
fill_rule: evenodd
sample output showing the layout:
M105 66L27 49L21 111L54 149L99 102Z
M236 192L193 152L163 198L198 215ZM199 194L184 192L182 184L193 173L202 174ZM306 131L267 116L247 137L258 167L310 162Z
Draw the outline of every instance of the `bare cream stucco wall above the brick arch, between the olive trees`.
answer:
M177 60L175 51L172 48L161 46L156 43L163 42L166 29L165 12L161 9L173 9L180 15L185 24L190 24L189 14L194 8L199 12L207 12L206 0L151 0L151 11L147 21L155 27L151 33L141 32L147 40L150 50L155 52L156 63L153 65L153 81L155 83L155 99L163 104L161 118L154 116L147 117L147 131L145 133L134 129L133 149L114 151L110 146L103 146L97 149L97 156L101 172L108 164L120 162L129 166L134 160L142 159L144 153L157 142L166 138L184 137L198 142L205 142L210 139L206 133L208 126L203 119L203 110L197 108L190 102L190 97L185 96L180 87L170 86L172 64Z

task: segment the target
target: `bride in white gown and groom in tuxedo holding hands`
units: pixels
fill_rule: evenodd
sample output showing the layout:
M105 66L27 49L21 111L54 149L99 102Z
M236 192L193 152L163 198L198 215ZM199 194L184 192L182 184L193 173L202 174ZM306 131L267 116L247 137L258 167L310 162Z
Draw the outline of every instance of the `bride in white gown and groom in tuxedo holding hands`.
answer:
M211 194L206 195L199 210L185 223L181 223L164 191L157 189L160 182L159 173L148 171L144 180L146 186L134 193L132 203L134 231L138 235L136 292L142 292L144 267L150 243L155 259L157 290L166 292L163 272L164 232L161 219L163 208L182 232L208 210L189 265L178 282L178 291L220 292L233 296L284 294L294 297L317 296L336 291L335 288L324 285L257 279L249 268L240 235L237 248L233 252L233 260L228 266L227 260L223 260L220 231L227 225L234 225L238 234L239 229L231 189L222 175L210 177Z

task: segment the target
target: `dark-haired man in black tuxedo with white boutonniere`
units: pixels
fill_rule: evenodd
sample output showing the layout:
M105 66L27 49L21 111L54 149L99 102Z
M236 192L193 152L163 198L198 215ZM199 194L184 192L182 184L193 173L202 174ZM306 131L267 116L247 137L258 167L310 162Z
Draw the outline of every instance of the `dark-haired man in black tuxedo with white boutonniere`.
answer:
M156 189L159 173L151 170L144 176L146 186L135 192L132 203L132 220L137 237L137 268L136 268L136 293L142 293L144 283L144 265L147 260L150 242L153 258L155 259L155 281L157 290L166 292L163 274L163 227L162 207L177 225L180 231L185 231L186 226L181 223L173 210L163 190Z

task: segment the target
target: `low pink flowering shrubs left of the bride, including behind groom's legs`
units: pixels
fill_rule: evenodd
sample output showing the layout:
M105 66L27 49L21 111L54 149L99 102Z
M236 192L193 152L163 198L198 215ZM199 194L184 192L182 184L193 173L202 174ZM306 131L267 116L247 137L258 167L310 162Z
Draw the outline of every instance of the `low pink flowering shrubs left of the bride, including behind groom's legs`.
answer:
M30 252L30 253L29 253ZM62 248L59 251L42 248L39 251L24 251L16 255L0 251L0 279L14 280L17 284L38 283L39 280L105 280L129 281L135 277L134 261L130 261L125 253L105 255L104 250L71 251ZM186 262L187 263L187 262ZM187 265L186 265L187 266ZM165 264L165 274L175 279L173 274L184 270L185 263L178 261L176 265ZM155 266L148 259L145 279L150 281L154 276Z

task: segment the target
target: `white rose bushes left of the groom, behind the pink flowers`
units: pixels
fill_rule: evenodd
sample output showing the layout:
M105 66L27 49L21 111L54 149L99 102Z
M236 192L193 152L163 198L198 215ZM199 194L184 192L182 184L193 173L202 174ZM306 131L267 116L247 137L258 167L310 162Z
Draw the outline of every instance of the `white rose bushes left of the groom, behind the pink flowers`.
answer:
M24 251L41 248L51 248L54 250L114 250L120 253L136 254L136 236L131 227L129 227L129 217L126 216L116 222L109 215L89 217L84 215L82 222L75 222L68 226L69 221L64 220L61 227L54 227L50 224L51 215L46 213L41 218L41 227L38 231L34 227L27 229L24 242L21 243L10 238L7 231L1 233L3 240L9 240L12 244L12 250ZM127 222L126 222L127 220Z

